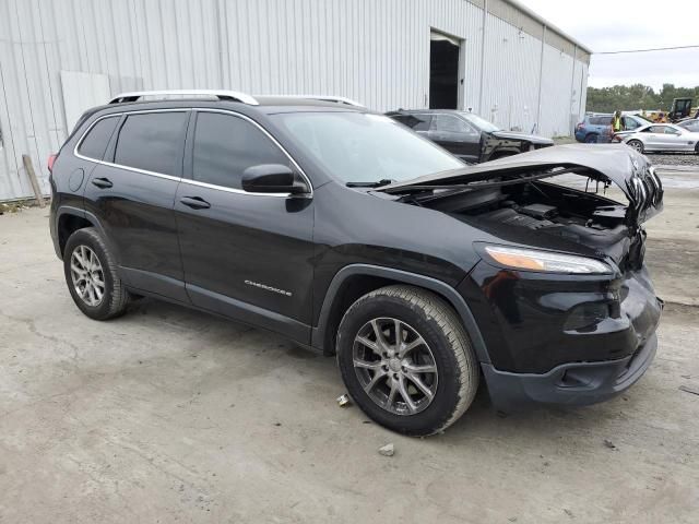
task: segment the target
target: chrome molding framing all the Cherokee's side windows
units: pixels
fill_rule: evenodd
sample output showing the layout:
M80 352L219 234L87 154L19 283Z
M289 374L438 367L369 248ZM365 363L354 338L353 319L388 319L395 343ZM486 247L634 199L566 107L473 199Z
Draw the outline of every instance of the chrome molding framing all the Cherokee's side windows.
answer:
M80 148L80 145L83 143L83 140L85 140L85 136L87 136L87 133L90 133L90 131L92 130L92 128L98 121L104 120L105 118L110 118L110 117L119 118L119 117L121 117L123 115L143 115L143 114L149 114L149 112L189 112L189 111L227 114L227 115L232 115L235 118L241 118L244 120L247 120L248 122L250 122L253 126L256 126L292 162L292 164L294 165L296 170L299 172L299 175L303 177L304 181L308 186L308 192L307 193L301 193L301 194L294 194L294 195L292 195L292 193L257 193L257 192L250 192L250 191L245 191L242 189L228 188L228 187L225 187L225 186L216 186L216 184L213 184L213 183L206 183L206 182L202 182L202 181L199 181L199 180L193 180L193 179L190 179L190 178L175 177L173 175L166 175L164 172L149 171L146 169L140 169L138 167L125 166L123 164L115 164L112 162L106 162L106 160L102 160L102 159L97 159L97 158L92 158L92 157L88 157L88 156L81 155L79 153L79 151L78 151ZM272 196L272 198L285 198L285 199L286 198L312 199L312 196L313 196L313 184L310 182L310 179L308 178L306 172L304 172L301 167L296 163L294 157L284 148L284 146L282 146L282 144L280 144L279 141L274 136L272 136L266 129L264 129L258 122L252 120L250 117L247 117L246 115L241 115L241 114L236 112L236 111L226 110L226 109L211 109L211 108L204 108L204 107L188 107L188 108L173 108L173 109L143 109L143 110L137 110L137 111L120 111L120 112L110 112L109 115L103 115L102 117L95 119L95 121L92 122L90 124L90 127L85 130L85 132L80 136L80 140L75 143L75 147L73 147L73 155L75 155L78 158L81 158L83 160L92 162L92 163L95 163L95 164L100 164L103 166L116 167L116 168L119 168L119 169L126 169L128 171L140 172L142 175L163 178L163 179L166 179L166 180L181 181L181 182L185 182L185 183L188 183L188 184L192 184L192 186L200 186L202 188L217 189L217 190L225 191L225 192L228 192L228 193L249 194L250 196Z

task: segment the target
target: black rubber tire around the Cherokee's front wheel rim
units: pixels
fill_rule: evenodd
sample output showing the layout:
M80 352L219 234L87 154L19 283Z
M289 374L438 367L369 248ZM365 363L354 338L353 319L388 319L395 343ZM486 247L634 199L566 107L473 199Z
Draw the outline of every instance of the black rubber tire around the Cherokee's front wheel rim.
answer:
M423 410L393 413L375 402L365 391L358 377L364 371L356 371L354 365L355 337L372 319L396 319L414 329L414 333L426 342L427 350L434 357L437 376L433 382L436 384L434 396ZM394 336L390 327L388 333ZM359 347L367 349L360 343ZM420 288L388 286L359 298L340 323L336 350L342 378L354 402L376 422L400 433L428 436L443 431L469 408L478 389L478 362L461 320L445 300ZM393 379L396 376L388 367L386 370L387 378L381 380L387 382L379 383L379 386L388 389L391 380L388 376L392 374ZM414 393L419 395L414 383L410 384ZM410 391L410 388L404 391ZM394 405L400 407L399 403ZM407 407L407 403L403 405Z

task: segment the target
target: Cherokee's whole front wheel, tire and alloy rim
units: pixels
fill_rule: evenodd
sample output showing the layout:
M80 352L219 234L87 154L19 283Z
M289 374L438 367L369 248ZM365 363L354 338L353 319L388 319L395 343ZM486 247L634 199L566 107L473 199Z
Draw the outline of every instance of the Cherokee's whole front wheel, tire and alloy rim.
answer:
M445 430L478 389L478 365L453 309L437 295L389 286L354 302L337 331L350 395L375 421L411 436Z

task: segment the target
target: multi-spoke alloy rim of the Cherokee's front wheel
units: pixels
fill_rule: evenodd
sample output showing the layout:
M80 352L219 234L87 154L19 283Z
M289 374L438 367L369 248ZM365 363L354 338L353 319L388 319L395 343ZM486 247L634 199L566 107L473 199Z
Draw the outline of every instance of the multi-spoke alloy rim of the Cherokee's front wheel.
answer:
M370 320L357 332L352 353L364 392L387 412L415 415L435 398L435 356L425 338L406 322L388 317Z

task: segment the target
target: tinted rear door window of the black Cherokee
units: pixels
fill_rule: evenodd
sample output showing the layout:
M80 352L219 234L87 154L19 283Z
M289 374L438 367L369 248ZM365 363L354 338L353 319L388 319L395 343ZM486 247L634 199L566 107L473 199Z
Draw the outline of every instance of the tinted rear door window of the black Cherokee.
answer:
M115 164L180 176L188 111L127 117L117 139Z

